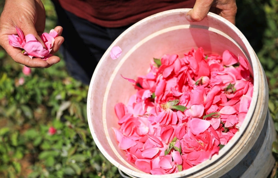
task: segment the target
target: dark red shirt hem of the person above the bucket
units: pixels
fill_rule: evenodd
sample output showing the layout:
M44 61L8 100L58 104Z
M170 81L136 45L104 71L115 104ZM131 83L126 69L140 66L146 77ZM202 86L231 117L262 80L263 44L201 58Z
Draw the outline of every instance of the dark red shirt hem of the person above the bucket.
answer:
M170 9L193 8L195 0L58 0L67 11L104 27L133 24Z

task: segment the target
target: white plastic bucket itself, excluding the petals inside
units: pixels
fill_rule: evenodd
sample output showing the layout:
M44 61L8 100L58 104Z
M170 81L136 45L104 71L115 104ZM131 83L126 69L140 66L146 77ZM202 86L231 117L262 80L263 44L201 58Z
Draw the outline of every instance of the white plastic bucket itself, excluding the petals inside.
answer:
M145 18L123 32L102 56L92 76L87 97L90 131L104 156L131 177L267 177L274 166L271 144L275 129L268 117L268 85L262 66L244 35L229 21L209 13L201 22L187 22L190 9L174 9ZM110 51L120 46L122 55L112 60ZM140 171L118 148L113 127L119 128L115 104L127 103L136 91L120 74L136 79L145 75L153 58L203 47L205 54L229 49L242 56L254 78L249 110L239 131L218 155L179 173L150 175Z

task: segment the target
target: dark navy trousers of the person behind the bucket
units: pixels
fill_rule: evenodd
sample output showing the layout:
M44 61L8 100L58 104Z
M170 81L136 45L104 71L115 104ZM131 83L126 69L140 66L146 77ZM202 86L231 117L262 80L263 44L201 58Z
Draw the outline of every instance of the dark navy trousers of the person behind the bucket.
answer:
M79 18L55 3L58 24L63 27L65 41L60 53L68 73L89 85L94 69L111 43L129 26L106 28Z

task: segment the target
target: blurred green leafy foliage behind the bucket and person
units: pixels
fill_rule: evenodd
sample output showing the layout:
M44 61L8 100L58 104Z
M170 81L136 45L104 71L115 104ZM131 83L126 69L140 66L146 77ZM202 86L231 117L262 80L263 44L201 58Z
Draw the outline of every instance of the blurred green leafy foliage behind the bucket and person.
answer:
M43 0L46 32L56 13ZM0 0L2 12L4 0ZM269 109L278 131L278 1L237 1L236 26L254 48L269 83ZM22 74L0 48L0 177L120 177L104 158L87 125L88 86L71 78L64 61L47 69ZM25 80L19 84L20 77ZM57 133L49 135L49 127ZM278 143L273 143L278 155ZM278 161L278 157L277 157ZM277 177L277 165L269 177Z

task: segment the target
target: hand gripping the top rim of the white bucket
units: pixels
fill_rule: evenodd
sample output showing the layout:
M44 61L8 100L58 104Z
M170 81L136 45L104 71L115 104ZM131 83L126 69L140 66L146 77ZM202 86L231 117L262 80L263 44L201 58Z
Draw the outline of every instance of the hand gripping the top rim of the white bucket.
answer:
M208 12L213 12L229 20L235 25L237 5L235 0L196 0L193 9L186 14L189 22L199 22L207 16Z

